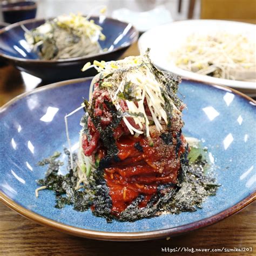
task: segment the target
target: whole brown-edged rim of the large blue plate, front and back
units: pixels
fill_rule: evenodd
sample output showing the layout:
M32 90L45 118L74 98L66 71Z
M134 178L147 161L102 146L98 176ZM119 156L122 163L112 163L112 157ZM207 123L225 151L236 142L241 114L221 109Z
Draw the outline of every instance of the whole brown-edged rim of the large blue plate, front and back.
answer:
M6 109L6 107L14 104L19 99L24 98L33 93L41 92L44 90L49 90L49 89L59 87L59 86L70 85L73 83L85 82L86 80L89 80L89 79L92 79L92 77L66 80L63 82L46 85L46 86L40 87L38 89L32 90L30 92L24 92L21 95L15 97L14 99L10 100L5 105L3 105L0 108L0 112L4 111ZM244 95L243 93L241 93L237 90L231 89L229 87L202 83L202 82L198 82L195 80L191 80L191 81L200 83L203 86L213 86L213 87L218 88L219 90L232 91L234 94L239 95L240 97L243 97L246 100L256 104L255 100L253 100L252 98ZM256 200L256 192L252 192L248 197L242 199L234 206L227 208L226 210L219 212L211 217L195 221L194 223L190 223L190 224L186 224L186 225L182 225L182 226L178 226L178 227L173 227L173 228L166 228L166 229L158 230L158 231L125 233L125 232L91 231L91 230L86 230L84 228L79 228L79 227L74 227L74 226L58 223L57 221L51 220L49 218L45 218L42 215L39 215L37 213L33 213L33 212L29 211L25 207L22 207L21 205L15 203L15 201L13 201L8 196L6 196L2 191L0 191L0 201L2 201L3 204L5 204L9 208L11 208L12 210L23 215L25 218L36 221L39 224L48 226L57 231L62 231L62 232L65 232L65 233L68 233L71 235L76 235L78 237L85 237L85 238L97 239L97 240L111 240L111 241L140 241L140 240L159 239L159 238L169 237L169 236L178 235L181 233L186 233L186 232L190 232L193 230L197 230L198 228L212 225L214 223L217 223L220 220L230 217L231 215L241 211L243 208L245 208L246 206L253 203L254 200Z

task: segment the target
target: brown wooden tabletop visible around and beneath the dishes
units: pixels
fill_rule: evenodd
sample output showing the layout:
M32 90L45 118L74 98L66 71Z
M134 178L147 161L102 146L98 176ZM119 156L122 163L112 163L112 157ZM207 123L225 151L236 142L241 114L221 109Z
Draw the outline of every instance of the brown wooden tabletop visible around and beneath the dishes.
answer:
M137 45L123 57L137 55ZM24 91L40 86L38 79L12 66L0 67L0 105ZM0 255L163 255L161 248L234 248L254 247L256 254L256 204L217 224L201 228L170 240L142 242L108 242L72 237L27 220L0 203ZM165 254L170 252L165 252ZM196 255L196 253L195 253ZM210 255L201 253L201 255Z

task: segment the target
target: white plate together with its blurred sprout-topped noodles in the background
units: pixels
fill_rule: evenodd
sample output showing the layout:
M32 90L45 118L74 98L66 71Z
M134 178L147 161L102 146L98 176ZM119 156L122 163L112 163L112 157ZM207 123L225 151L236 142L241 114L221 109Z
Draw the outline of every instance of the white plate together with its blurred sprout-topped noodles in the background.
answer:
M255 25L199 19L157 26L139 38L158 68L256 96Z

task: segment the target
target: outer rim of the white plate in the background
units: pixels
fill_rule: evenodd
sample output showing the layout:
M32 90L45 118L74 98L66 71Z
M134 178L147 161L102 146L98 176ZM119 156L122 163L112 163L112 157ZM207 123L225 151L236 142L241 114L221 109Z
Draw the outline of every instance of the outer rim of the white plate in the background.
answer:
M138 39L139 51L140 51L140 53L144 52L143 51L144 47L142 46L143 45L142 42L146 40L146 38L152 33L152 31L158 30L159 28L162 28L163 26L175 26L176 24L179 24L179 23L180 24L182 24L182 23L191 24L191 23L208 23L208 22L211 22L211 23L213 23L213 22L216 22L216 23L233 23L234 25L235 24L242 24L242 25L246 25L246 26L251 26L251 28L256 28L256 25L251 24L251 23L239 22L239 21L230 21L230 20L222 20L222 19L221 20L220 19L192 19L192 20L184 20L184 21L174 21L174 22L171 22L171 23L169 22L169 23L158 25L158 26L154 26L150 30L147 30L145 33L143 33L143 35L140 36L140 38ZM173 72L170 69L167 69L166 66L159 65L159 63L158 64L154 63L154 64L157 65L158 68L160 68L160 69ZM246 81L239 81L239 80L209 77L209 76L206 76L206 75L200 75L200 74L197 74L197 73L194 73L194 72L191 72L191 71L180 69L176 65L174 65L174 70L175 70L174 73L177 73L179 76L181 76L185 79L190 79L190 80L195 79L195 80L198 80L202 83L210 83L210 84L214 83L214 84L218 84L218 85L221 85L221 86L231 86L231 87L236 88L236 89L253 90L253 91L256 92L256 87L254 85L255 84L254 82L246 82ZM192 75L190 75L190 74L196 75L197 77L191 77ZM214 78L214 81L209 81L207 78L208 79L209 78ZM205 79L207 79L207 80L205 80ZM233 85L228 84L229 81L235 82L235 84L233 84ZM225 84L223 84L223 83L225 83ZM239 83L244 83L244 84L239 85Z

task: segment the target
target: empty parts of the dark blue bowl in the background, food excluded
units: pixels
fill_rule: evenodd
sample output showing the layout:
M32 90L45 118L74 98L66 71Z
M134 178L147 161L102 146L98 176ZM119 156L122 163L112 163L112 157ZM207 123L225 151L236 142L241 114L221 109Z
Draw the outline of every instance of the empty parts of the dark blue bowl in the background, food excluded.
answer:
M107 48L109 51L78 58L41 60L37 53L30 51L21 25L31 30L45 23L46 20L30 19L6 26L0 31L0 57L9 60L21 71L51 82L95 75L92 70L82 72L83 65L93 60L116 60L137 41L138 31L131 24L116 19L103 16L91 17L91 19L102 26L106 39L99 43L103 49Z

